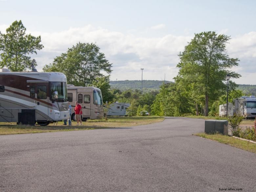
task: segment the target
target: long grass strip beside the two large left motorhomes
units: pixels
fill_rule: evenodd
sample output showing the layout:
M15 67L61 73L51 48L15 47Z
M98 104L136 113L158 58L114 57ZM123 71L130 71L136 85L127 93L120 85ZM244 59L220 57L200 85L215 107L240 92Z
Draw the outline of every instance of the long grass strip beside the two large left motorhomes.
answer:
M145 125L163 121L163 117L149 116L149 117L108 117L98 120L83 121L82 125L77 126L75 121L72 121L72 126L63 125L58 122L57 126L50 123L48 126L28 126L16 125L16 123L0 123L0 135L9 134L24 134L24 133L44 133L57 131L75 131L75 130L91 130L91 129L106 129L116 127L130 127L137 125Z

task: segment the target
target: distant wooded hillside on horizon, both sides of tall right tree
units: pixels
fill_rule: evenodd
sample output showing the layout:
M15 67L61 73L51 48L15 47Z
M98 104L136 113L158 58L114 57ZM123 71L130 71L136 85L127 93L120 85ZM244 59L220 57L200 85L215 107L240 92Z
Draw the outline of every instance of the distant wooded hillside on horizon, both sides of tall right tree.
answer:
M171 81L165 81L165 83L170 83ZM141 81L110 81L110 86L112 89L120 89L121 91L125 91L128 89L141 89ZM163 84L163 81L157 80L143 80L143 91L152 91L159 90L160 85ZM238 85L238 89L243 91L244 95L256 95L256 85Z

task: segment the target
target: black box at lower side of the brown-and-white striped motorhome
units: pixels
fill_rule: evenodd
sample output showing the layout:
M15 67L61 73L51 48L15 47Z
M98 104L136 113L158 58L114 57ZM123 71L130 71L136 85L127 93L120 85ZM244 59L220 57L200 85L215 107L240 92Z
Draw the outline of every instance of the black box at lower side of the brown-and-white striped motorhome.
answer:
M21 113L18 113L18 123L34 125L35 109L22 109Z

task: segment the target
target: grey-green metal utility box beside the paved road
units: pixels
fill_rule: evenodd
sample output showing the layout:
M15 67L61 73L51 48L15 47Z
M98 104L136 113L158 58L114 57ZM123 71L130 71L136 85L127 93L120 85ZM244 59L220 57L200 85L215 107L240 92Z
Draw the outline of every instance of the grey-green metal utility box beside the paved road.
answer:
M228 121L227 120L205 120L204 132L214 133L219 132L223 135L228 135Z

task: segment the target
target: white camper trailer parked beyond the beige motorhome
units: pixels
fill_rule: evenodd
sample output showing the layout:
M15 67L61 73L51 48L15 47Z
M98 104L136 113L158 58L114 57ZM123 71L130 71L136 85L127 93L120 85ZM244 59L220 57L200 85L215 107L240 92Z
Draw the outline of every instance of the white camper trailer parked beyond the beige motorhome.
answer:
M126 115L126 109L130 107L130 103L111 103L107 108L107 115L108 116L125 116Z

